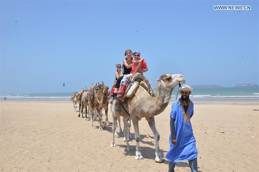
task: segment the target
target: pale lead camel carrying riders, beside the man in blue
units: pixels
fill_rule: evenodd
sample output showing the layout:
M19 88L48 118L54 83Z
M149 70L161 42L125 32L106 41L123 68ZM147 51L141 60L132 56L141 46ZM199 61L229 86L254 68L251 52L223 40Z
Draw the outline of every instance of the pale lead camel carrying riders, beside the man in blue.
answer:
M127 138L127 130L128 130L128 120L131 119L134 130L135 130L135 140L136 140L136 160L143 159L141 152L140 152L140 134L139 134L139 126L138 121L141 118L146 118L148 124L153 131L155 136L155 162L162 163L164 159L161 157L161 152L159 149L159 139L160 135L157 132L155 126L155 116L162 113L165 108L167 107L173 89L179 85L180 83L185 83L185 78L183 75L176 74L176 75L169 75L164 74L161 75L160 79L157 79L157 95L155 97L151 97L149 93L142 87L139 86L135 95L128 99L125 99L124 103L120 103L119 100L115 100L113 102L112 107L112 116L113 116L113 136L111 147L116 146L114 141L115 129L118 118L120 116L123 117L123 134L125 138ZM128 112L128 114L123 110L122 106ZM133 150L131 146L129 146L129 142L125 139L127 144L127 150Z

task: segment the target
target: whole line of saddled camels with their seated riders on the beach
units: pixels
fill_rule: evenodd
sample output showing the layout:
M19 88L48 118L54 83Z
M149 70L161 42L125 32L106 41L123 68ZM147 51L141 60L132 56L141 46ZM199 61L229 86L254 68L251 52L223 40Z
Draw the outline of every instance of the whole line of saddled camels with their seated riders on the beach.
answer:
M127 53L127 58L125 58L123 61L123 66L124 64L124 67L131 66L131 74L119 76L118 78L116 77L117 82L120 84L119 89L116 90L117 86L115 80L113 85L113 87L115 87L115 91L114 88L111 89L112 91L108 90L108 86L102 82L102 84L91 85L89 90L81 89L79 93L74 92L71 97L74 105L74 111L77 111L77 103L79 103L79 109L81 109L82 117L83 108L85 109L84 113L86 119L88 107L90 112L89 114L91 115L91 118L89 115L89 120L92 121L92 126L94 126L93 122L96 119L95 116L98 115L99 130L103 130L106 128L106 126L111 125L108 122L108 105L110 104L113 117L111 147L116 146L115 136L118 136L116 132L117 123L119 123L119 132L122 132L120 126L120 120L122 117L124 134L123 139L126 142L127 150L129 151L133 150L133 148L129 145L129 140L132 139L130 136L131 124L133 124L134 127L134 139L136 140L136 160L143 159L140 151L140 131L138 122L142 118L146 118L148 125L153 131L153 138L155 138L155 162L162 163L164 159L161 157L161 152L159 149L160 135L155 126L155 116L161 114L165 110L171 99L172 91L174 88L179 84L185 83L186 80L181 74L161 75L160 78L157 79L157 91L155 91L151 86L150 81L148 81L148 79L146 79L143 75L143 72L147 71L147 67L145 68L143 65L145 63L143 62L144 60L138 57L140 56L140 52L132 53L130 51L130 53L131 54ZM135 61L138 59L140 60L134 62L134 59L132 59L133 55L135 56ZM131 61L130 59L132 62L129 62ZM133 69L134 72L132 72ZM105 112L104 122L102 121L102 110ZM80 117L80 110L78 117Z

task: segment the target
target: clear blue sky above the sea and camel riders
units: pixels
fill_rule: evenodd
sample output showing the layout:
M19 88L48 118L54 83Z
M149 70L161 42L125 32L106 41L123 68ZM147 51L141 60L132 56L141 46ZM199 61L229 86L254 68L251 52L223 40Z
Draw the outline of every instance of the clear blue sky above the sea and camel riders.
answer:
M139 50L153 87L258 84L258 1L0 1L0 91L109 87L126 49ZM251 5L214 10L213 5ZM62 83L65 82L65 87Z

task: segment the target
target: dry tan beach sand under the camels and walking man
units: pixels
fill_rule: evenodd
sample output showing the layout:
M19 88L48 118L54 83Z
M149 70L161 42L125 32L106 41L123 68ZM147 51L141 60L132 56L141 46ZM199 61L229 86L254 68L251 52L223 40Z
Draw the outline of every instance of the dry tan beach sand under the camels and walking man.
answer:
M155 117L163 157L169 149L170 103ZM258 102L194 102L191 119L199 171L258 170ZM168 161L155 163L155 140L145 119L140 124L143 160L127 151L123 133L111 147L111 126L77 117L71 102L1 101L1 171L168 171ZM112 121L109 110L109 121ZM134 132L132 126L131 132ZM224 132L224 133L221 133ZM134 134L132 134L134 138ZM190 171L188 162L176 171Z

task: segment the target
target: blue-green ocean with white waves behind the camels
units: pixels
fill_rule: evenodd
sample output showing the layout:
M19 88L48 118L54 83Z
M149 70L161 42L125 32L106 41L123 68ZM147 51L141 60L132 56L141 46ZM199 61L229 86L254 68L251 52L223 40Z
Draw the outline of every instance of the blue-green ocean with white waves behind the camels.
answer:
M172 92L171 101L176 99L178 87ZM23 93L1 94L4 101L70 101L73 92L67 93ZM178 98L181 95L178 93ZM190 99L193 101L259 101L259 87L223 87L193 89Z

